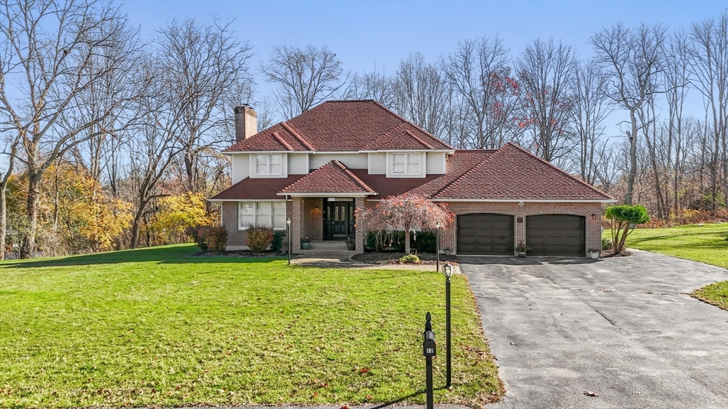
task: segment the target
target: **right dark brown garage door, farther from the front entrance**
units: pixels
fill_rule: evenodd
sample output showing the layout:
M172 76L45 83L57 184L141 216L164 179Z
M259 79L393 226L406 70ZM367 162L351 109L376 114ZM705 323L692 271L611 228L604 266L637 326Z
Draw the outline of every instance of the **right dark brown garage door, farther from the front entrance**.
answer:
M526 216L529 255L585 256L584 216Z

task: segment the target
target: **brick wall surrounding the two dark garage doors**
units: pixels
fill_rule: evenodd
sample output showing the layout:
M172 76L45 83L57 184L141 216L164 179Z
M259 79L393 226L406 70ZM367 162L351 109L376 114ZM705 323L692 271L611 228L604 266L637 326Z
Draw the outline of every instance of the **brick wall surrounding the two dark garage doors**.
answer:
M523 203L513 202L449 202L448 209L455 215L469 213L499 213L513 215L515 234L513 245L519 240L526 241L526 216L543 214L580 215L586 222L586 249L601 249L601 203ZM595 215L595 218L592 218ZM517 222L521 217L523 221ZM449 249L453 254L457 251L457 223L453 223L440 231L440 249ZM528 243L526 243L528 245ZM515 254L514 254L515 255ZM586 254L585 254L586 256Z

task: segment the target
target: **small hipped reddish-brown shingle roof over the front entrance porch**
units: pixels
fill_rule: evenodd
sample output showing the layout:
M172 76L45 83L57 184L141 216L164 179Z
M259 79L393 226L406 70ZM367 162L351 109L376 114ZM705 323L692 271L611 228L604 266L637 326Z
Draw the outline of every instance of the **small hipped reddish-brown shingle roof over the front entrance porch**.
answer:
M291 183L280 193L376 193L341 162L333 160Z

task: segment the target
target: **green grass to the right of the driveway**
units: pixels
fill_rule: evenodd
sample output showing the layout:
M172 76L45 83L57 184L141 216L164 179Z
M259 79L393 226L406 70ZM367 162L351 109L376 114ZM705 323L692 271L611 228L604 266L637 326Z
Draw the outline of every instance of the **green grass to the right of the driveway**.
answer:
M728 269L728 223L680 226L668 229L635 229L627 247L702 261ZM609 230L604 231L609 237ZM692 293L707 303L728 309L728 281L707 285Z

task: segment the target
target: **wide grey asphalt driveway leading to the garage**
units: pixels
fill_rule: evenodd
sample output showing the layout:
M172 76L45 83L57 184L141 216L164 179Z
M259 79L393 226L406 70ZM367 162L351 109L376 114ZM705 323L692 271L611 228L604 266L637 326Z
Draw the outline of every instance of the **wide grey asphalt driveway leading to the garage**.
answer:
M460 260L506 386L493 408L728 408L728 311L686 294L728 270L643 251Z

